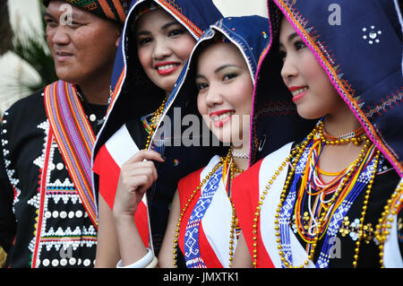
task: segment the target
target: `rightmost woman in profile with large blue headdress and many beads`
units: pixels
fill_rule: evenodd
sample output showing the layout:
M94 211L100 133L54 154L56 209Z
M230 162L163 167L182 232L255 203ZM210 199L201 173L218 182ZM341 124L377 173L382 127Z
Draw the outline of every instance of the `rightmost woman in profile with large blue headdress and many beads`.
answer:
M270 0L269 9L265 61L282 59L283 96L301 117L320 120L236 178L235 264L402 267L402 39L393 3Z

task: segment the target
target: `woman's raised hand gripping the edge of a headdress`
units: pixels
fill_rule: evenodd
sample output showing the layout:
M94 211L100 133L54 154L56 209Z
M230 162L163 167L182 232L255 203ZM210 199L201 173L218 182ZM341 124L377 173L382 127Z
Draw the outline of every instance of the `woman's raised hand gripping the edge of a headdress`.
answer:
M142 196L158 178L153 160L164 161L159 152L141 150L122 165L116 189L114 217L128 215L133 218Z

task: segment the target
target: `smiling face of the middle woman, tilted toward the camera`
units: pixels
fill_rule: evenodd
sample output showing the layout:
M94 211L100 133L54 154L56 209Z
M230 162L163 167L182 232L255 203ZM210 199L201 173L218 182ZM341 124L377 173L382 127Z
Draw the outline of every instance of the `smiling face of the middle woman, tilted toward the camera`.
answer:
M204 122L221 142L249 143L253 81L235 45L215 43L199 57L197 104Z

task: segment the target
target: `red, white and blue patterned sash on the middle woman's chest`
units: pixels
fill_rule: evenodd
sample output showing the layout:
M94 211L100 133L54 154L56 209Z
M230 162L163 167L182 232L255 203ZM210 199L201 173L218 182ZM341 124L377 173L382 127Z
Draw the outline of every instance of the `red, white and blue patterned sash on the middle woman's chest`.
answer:
M220 161L219 156L214 156L205 168L181 179L178 184L180 206L185 209L178 240L189 268L227 268L229 252L235 252L236 238L232 239L232 245L228 240L233 210L222 181ZM197 189L201 182L203 185ZM189 202L190 197L193 198Z

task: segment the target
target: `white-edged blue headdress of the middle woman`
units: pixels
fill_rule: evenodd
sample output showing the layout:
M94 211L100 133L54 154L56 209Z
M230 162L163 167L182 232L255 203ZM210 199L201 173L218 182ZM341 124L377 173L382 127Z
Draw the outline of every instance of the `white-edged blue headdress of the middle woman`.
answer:
M196 100L198 91L194 80L196 58L200 51L208 46L210 42L216 41L230 42L239 48L249 67L253 84L258 81L257 74L261 57L264 55L270 42L268 19L261 16L227 17L221 19L210 25L210 29L204 31L201 39L199 39L193 48L192 55L186 64L187 66L179 76L176 87L167 100L164 111L165 116L174 118L173 113L175 108L182 108L183 117L188 114L199 116ZM202 122L202 120L200 121ZM178 135L180 136L181 134ZM210 136L210 134L202 135ZM201 138L201 140L203 139ZM201 148L201 152L213 149L213 147L209 146L201 146L199 148ZM224 150L227 152L227 147L220 151L223 152Z

